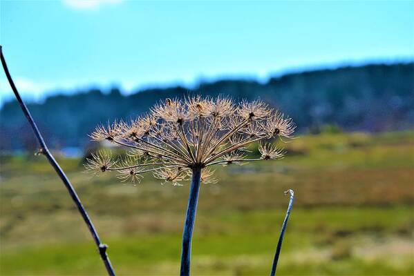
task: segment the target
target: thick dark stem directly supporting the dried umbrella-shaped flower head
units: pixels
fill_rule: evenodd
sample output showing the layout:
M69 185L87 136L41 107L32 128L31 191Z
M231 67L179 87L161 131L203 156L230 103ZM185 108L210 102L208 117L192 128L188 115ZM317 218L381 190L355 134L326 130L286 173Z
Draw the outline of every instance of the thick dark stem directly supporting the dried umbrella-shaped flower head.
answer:
M184 230L182 231L182 250L180 275L190 274L191 238L193 236L194 220L196 219L198 192L200 191L201 167L192 169L191 186L188 196L187 213L185 215Z

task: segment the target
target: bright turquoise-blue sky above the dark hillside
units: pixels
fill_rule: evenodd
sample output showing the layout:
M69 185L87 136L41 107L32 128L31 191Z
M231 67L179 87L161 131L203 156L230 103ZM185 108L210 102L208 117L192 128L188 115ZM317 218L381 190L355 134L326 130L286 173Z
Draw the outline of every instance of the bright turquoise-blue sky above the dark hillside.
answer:
M2 0L0 12L3 53L31 99L414 55L413 1Z

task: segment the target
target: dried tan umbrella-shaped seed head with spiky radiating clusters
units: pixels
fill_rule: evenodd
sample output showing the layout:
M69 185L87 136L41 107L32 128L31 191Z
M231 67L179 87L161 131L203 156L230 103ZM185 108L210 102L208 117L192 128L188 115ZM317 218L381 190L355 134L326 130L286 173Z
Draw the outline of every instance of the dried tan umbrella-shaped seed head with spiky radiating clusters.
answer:
M133 182L152 172L154 177L178 185L191 176L193 168L203 168L202 181L213 183L208 180L213 171L206 167L282 157L283 152L270 144L260 144L261 157L257 159L247 159L245 152L252 143L292 137L294 128L292 119L263 101L236 105L228 97L166 99L129 124L115 121L98 126L91 134L93 140L106 139L131 152L122 162L104 153L93 155L86 169L116 170L122 181Z

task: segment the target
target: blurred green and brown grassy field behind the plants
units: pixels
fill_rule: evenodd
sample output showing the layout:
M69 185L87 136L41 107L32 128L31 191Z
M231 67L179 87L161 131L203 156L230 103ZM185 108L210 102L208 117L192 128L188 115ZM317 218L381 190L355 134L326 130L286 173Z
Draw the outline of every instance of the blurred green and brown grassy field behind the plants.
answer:
M202 186L194 275L267 275L295 191L278 275L414 275L414 132L306 135L280 161L217 168ZM120 184L59 159L119 275L178 275L188 184ZM44 157L2 157L1 275L103 275Z

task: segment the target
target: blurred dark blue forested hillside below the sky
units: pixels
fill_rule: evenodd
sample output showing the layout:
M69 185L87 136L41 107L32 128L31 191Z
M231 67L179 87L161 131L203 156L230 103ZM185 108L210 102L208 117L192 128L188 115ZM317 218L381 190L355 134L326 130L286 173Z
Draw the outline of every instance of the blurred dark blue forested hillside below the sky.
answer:
M77 91L49 97L29 108L54 147L85 146L87 134L99 123L129 119L160 99L191 94L229 95L235 99L260 97L290 115L299 131L317 132L321 126L382 132L414 126L414 63L372 64L335 70L314 70L273 77L267 83L220 80L184 87L148 89L123 96L120 90ZM15 101L0 110L0 147L35 146L32 132ZM19 134L19 135L17 135Z

